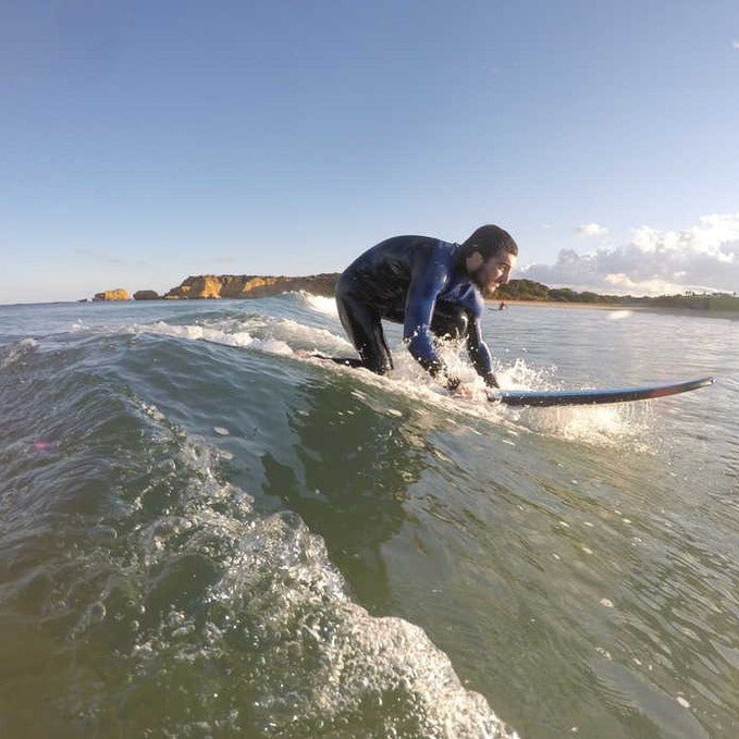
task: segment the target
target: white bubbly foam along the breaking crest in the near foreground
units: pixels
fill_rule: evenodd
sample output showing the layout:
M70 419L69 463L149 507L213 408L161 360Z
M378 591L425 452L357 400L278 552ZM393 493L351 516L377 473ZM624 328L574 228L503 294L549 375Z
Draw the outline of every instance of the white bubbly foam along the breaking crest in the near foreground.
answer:
M207 672L246 640L248 650L227 661L223 681L218 670L209 680L224 692L248 682L260 736L310 736L316 726L327 736L359 736L356 731L365 729L368 736L401 736L399 727L410 726L414 736L516 737L482 695L465 689L421 628L371 616L349 599L324 541L296 515L258 516L250 496L219 481L214 451L161 426L182 444L172 475L175 469L193 475L184 485L182 472L173 477L180 481L176 502L131 534L141 552L138 596L146 602L173 562L218 552L227 566L209 586L197 615L172 606L138 632L131 658L139 681L158 685L172 662L187 664L188 674ZM102 601L95 605L104 607ZM84 619L78 625L81 631L88 628ZM383 711L387 694L395 695L394 705ZM233 695L239 700L238 689ZM377 709L367 713L368 704ZM232 707L213 701L208 719L232 732L254 728L231 724L238 717ZM361 724L367 720L371 726ZM189 734L188 722L184 717L170 728Z

